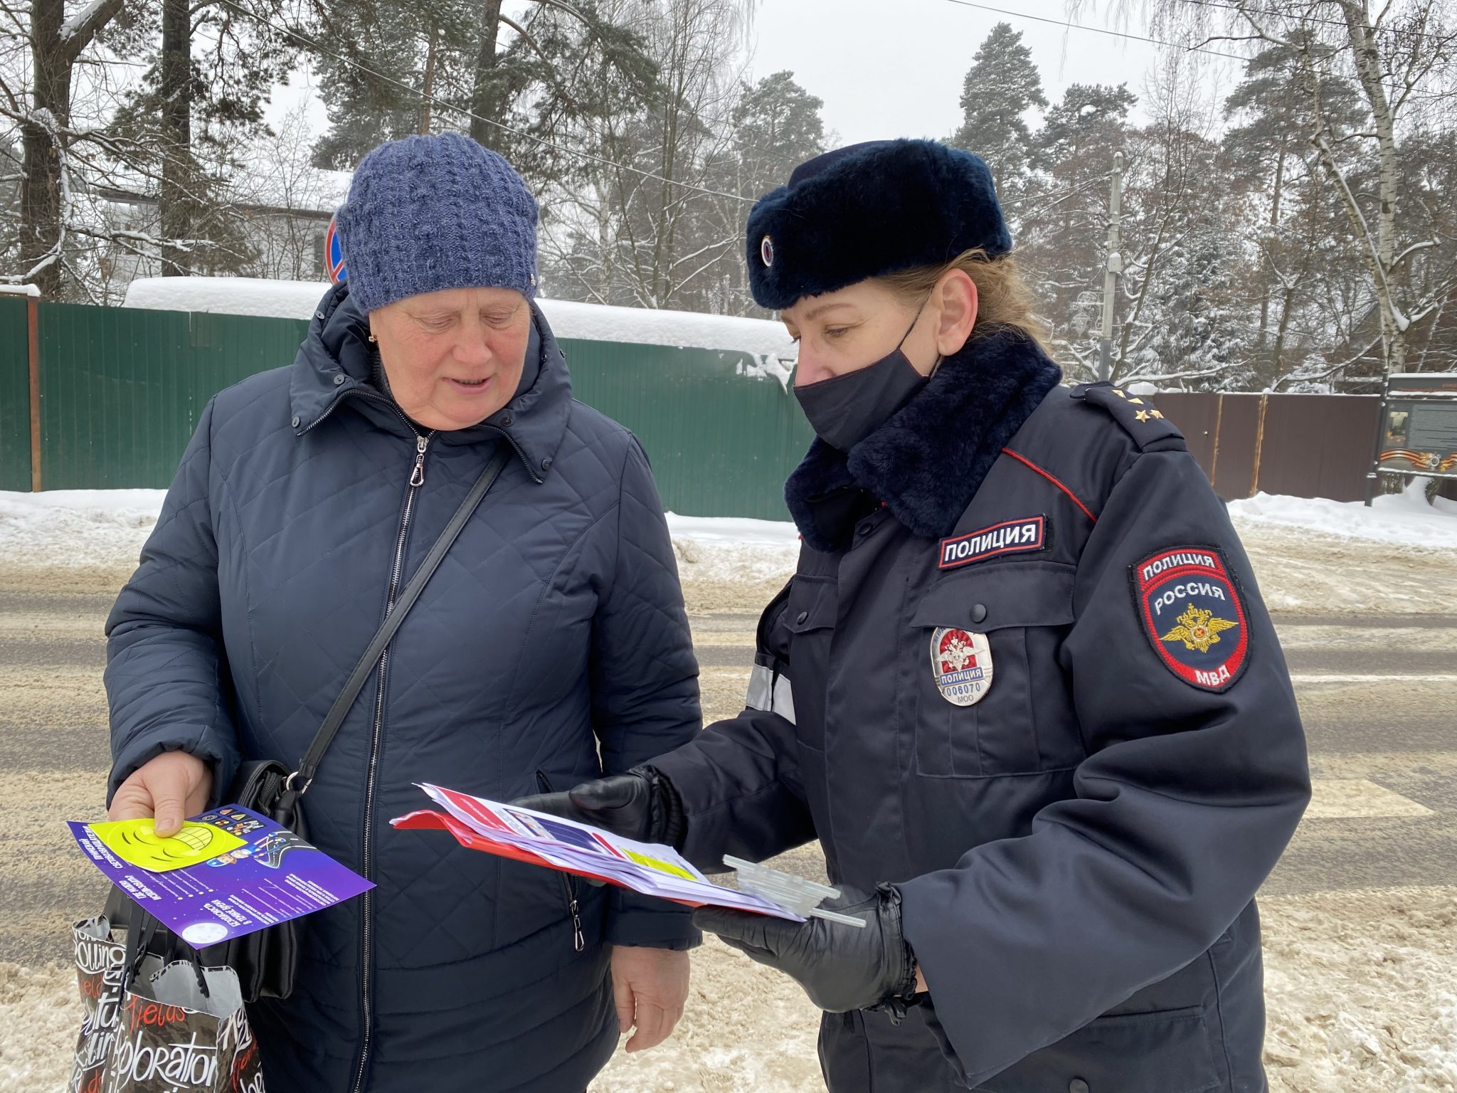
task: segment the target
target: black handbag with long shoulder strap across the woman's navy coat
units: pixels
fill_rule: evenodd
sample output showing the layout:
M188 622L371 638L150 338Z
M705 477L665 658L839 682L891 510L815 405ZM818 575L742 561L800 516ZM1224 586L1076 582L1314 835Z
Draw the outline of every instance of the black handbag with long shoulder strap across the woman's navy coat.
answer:
M455 542L460 529L465 528L487 490L495 482L497 475L510 459L510 447L501 444L501 450L487 463L471 493L456 509L450 523L440 532L430 554L420 564L420 570L396 596L393 606L380 624L364 656L354 665L344 689L334 700L329 713L319 726L319 732L309 745L309 751L300 759L297 769L290 771L278 759L252 759L237 768L233 783L227 790L223 803L240 804L245 809L258 812L288 831L309 838L309 829L299 807L300 799L307 791L313 775L319 771L319 761L328 751L329 743L344 724L344 716L354 705L364 681L374 672L385 647L389 644L405 615L420 599L421 590L434 574L440 560L446 557L450 544ZM287 998L293 992L294 975L299 969L300 920L294 918L251 934L208 946L203 950L203 960L208 965L227 965L237 972L237 982L243 991L245 1001L259 998Z

